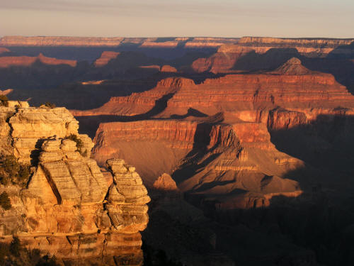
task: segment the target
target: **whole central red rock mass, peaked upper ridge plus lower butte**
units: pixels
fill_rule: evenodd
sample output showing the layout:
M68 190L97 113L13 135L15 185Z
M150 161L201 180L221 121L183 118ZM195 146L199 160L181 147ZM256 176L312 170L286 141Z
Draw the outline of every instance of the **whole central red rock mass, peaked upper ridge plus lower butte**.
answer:
M286 176L304 162L280 153L268 131L351 115L353 108L354 96L333 75L292 58L271 72L227 74L200 84L170 77L147 92L74 114L122 119L98 127L93 153L100 164L123 157L149 187L167 173L195 200L217 201L216 209L249 209L268 206L274 196L302 194Z

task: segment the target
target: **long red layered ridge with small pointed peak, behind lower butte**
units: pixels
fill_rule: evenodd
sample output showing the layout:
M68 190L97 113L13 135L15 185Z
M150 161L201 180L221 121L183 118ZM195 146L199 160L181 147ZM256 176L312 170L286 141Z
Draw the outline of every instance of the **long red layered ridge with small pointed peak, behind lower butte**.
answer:
M205 79L200 84L192 79L171 77L147 92L112 97L98 109L72 113L182 118L224 112L230 121L261 122L269 126L276 122L277 128L280 123L287 128L296 121L307 123L323 115L343 111L350 115L353 108L354 96L333 75L308 70L299 59L292 58L272 72L227 74Z

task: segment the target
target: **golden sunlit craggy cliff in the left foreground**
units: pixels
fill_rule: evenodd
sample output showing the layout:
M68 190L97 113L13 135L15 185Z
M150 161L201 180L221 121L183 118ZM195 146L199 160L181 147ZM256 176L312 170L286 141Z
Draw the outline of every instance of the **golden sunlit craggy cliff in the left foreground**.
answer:
M13 206L0 208L1 241L16 235L63 265L142 265L139 231L149 221L150 198L135 168L108 160L110 184L90 159L91 139L79 135L88 150L81 155L67 138L78 128L67 109L2 107L1 115L1 152L27 163L38 153L27 187L0 186Z

